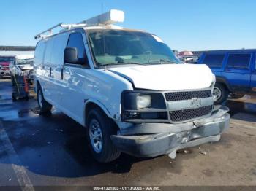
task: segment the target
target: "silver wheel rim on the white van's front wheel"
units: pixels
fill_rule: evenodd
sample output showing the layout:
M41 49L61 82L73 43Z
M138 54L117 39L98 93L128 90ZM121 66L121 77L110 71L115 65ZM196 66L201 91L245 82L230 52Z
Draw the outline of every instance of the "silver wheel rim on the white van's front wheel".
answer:
M99 153L102 151L102 130L100 128L99 122L95 119L91 120L89 125L89 136L91 141L91 146L94 151Z

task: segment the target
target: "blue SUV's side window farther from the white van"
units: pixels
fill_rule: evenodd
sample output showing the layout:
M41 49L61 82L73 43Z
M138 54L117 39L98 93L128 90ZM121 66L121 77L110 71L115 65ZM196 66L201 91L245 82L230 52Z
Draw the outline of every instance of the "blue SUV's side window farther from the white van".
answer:
M248 69L251 54L230 54L227 59L227 68Z

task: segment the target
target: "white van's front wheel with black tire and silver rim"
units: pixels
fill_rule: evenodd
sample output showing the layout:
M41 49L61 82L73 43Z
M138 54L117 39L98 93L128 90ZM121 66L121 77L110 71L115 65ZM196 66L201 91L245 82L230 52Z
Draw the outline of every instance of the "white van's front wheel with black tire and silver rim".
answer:
M89 111L86 120L87 140L94 159L99 163L116 160L121 154L110 139L111 135L116 135L115 127L113 121L101 109L94 108Z

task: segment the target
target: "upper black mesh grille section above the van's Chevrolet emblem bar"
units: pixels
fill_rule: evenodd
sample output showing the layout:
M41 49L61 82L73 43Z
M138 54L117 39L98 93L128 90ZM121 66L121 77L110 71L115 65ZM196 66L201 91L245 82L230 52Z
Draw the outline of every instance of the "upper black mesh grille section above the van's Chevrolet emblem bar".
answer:
M211 97L211 90L168 92L165 93L166 101L180 101L191 98L208 98Z

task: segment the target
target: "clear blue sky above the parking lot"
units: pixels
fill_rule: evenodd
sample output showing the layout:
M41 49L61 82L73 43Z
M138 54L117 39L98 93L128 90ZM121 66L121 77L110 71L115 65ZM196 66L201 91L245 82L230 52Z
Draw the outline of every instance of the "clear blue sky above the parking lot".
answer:
M255 0L1 0L0 45L35 45L57 23L122 9L118 25L161 37L176 50L256 48Z

